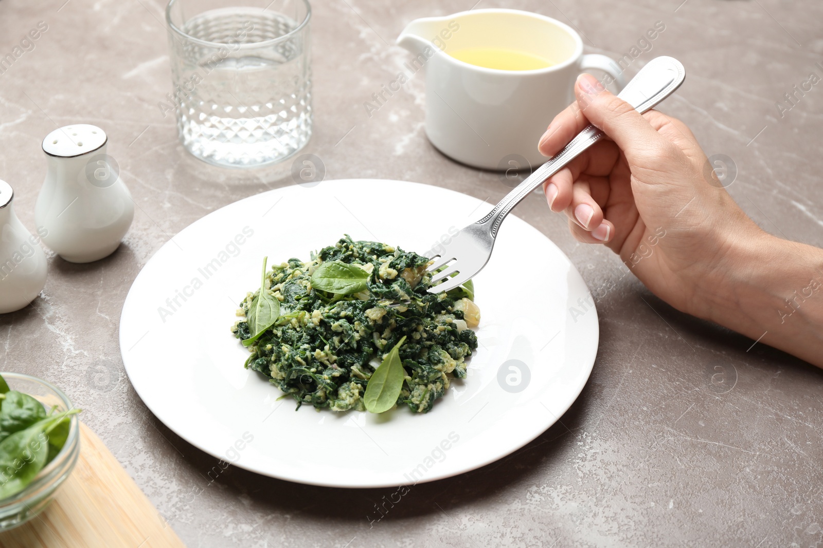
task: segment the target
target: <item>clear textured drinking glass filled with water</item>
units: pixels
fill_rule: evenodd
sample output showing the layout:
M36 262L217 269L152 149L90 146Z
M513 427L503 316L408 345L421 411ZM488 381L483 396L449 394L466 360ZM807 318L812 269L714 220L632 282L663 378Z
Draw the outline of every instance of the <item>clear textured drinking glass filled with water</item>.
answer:
M307 0L171 0L165 16L174 84L165 108L186 150L252 168L303 148L312 127Z

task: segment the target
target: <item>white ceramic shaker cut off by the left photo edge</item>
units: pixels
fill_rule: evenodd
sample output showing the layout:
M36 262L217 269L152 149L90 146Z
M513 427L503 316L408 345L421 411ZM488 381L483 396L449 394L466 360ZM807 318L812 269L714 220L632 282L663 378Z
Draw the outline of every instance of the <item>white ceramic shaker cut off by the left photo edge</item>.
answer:
M0 181L0 314L34 301L46 284L46 256L40 237L26 230L14 214L14 191ZM44 230L38 230L42 236Z

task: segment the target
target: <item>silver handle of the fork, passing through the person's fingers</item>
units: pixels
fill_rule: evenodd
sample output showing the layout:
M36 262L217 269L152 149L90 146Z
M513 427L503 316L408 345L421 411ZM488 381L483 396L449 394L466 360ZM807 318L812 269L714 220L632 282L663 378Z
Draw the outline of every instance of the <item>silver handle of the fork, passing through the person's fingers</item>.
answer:
M685 78L686 69L677 59L667 56L653 58L640 69L617 96L633 106L639 113L644 113L677 90ZM514 187L489 214L475 224L485 226L492 238L497 237L500 223L509 211L520 203L520 200L523 200L547 178L560 171L567 163L603 137L602 131L589 124L563 150L537 168L525 181Z

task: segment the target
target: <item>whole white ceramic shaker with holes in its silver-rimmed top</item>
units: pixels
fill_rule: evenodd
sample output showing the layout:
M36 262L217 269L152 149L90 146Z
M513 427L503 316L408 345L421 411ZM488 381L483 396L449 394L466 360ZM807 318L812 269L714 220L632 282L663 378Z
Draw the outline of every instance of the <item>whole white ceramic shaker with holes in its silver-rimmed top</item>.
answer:
M100 127L74 124L49 133L49 170L35 205L43 242L63 259L89 263L114 253L134 218L134 202L106 154Z

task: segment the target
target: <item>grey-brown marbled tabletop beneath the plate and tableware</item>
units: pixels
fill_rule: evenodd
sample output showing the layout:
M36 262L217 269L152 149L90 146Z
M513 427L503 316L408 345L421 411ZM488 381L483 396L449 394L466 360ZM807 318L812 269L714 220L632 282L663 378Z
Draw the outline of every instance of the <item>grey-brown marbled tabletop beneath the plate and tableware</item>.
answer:
M363 106L407 60L392 44L408 21L472 2L313 2L314 136L305 152L323 159L328 178L403 179L489 201L509 190L498 174L453 163L426 140L421 75L372 117ZM811 72L823 76L821 2L476 6L556 17L582 32L589 53L612 56L663 21L666 30L630 74L658 54L680 59L686 83L662 110L686 121L708 154L733 160L729 191L765 230L823 246L823 87L790 110L775 105ZM157 107L171 89L164 7L0 2L0 55L39 21L48 24L0 74L0 177L15 188L22 222L34 229L45 174L40 141L72 122L108 132L109 154L137 204L113 256L90 265L49 256L41 297L0 316L0 370L63 387L188 546L820 546L823 372L674 311L620 277L611 251L575 242L565 217L537 195L516 214L551 237L590 288L619 278L597 302L593 375L560 422L497 463L416 486L374 523L374 504L393 490L302 486L234 467L209 484L216 459L157 421L129 384L120 309L142 266L179 230L294 183L288 161L228 171L179 145L173 117ZM728 389L710 384L721 370Z

